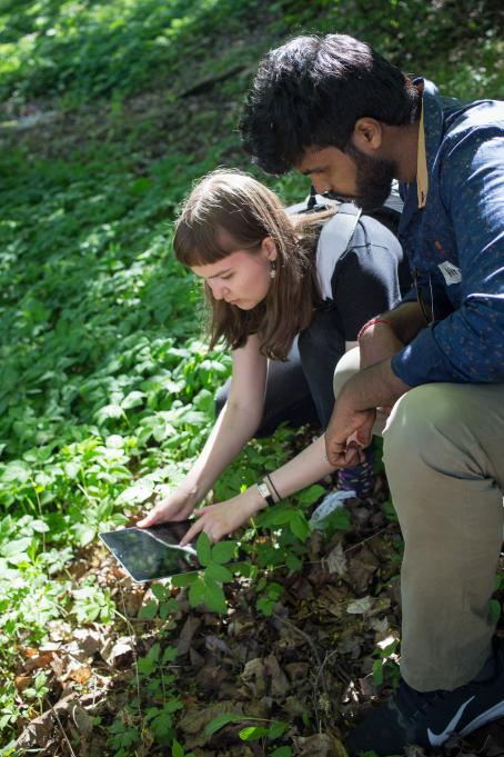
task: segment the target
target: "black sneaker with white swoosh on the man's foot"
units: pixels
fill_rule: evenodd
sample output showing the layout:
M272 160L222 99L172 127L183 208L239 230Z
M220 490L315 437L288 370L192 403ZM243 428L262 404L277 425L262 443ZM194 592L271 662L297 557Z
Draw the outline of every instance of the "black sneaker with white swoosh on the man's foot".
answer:
M401 755L406 745L437 747L452 734L467 736L504 716L504 644L494 646L493 675L453 691L421 693L404 680L383 705L367 713L350 733L351 757L374 750L380 757Z

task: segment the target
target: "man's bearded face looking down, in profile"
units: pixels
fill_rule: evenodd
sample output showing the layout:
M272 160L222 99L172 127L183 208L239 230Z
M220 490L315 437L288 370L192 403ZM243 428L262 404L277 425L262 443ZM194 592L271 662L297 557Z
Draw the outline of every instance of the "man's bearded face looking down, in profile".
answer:
M383 206L396 173L392 161L371 158L352 142L345 152L336 147L309 148L295 168L311 178L319 195L334 192L367 212Z

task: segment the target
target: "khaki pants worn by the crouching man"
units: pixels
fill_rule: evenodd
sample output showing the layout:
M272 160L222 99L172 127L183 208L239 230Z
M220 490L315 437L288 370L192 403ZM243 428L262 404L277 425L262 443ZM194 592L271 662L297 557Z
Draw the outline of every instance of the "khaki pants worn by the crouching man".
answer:
M335 396L357 369L354 349L336 366ZM405 544L401 674L421 691L451 690L477 675L494 631L488 602L503 540L504 385L411 389L383 437Z

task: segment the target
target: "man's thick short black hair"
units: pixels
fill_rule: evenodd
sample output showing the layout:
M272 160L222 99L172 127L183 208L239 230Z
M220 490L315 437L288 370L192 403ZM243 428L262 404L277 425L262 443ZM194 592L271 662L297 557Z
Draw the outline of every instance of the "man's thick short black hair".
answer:
M269 173L284 173L306 148L344 151L360 118L410 123L412 81L347 34L295 37L261 61L240 128L243 146Z

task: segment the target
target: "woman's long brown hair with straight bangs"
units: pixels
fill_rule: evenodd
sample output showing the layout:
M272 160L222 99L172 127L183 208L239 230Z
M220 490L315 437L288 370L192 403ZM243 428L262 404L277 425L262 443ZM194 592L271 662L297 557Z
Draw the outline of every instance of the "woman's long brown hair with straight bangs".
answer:
M256 333L263 355L286 359L320 301L314 253L320 217L290 217L274 192L240 171L216 170L195 185L177 221L173 247L180 262L205 266L239 249L256 255L265 237L278 250L276 276L264 300L251 310L216 300L204 283L211 347L224 337L235 349Z

